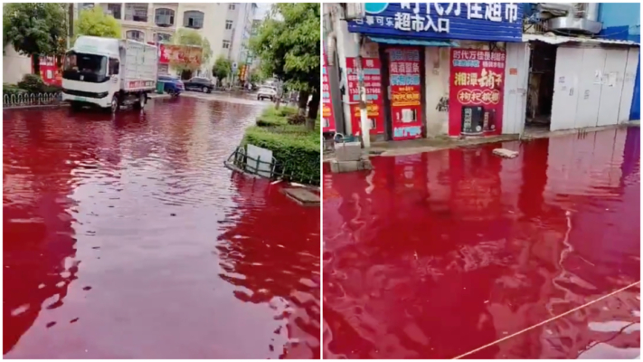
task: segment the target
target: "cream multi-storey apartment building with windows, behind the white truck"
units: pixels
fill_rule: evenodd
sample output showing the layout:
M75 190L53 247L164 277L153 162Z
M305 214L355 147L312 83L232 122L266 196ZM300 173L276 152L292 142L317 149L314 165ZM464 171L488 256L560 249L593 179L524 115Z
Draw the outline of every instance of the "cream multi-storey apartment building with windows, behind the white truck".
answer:
M80 3L77 8L93 6L100 6L120 22L124 39L162 43L181 28L201 33L213 52L208 64L202 67L206 76L211 74L220 55L232 62L241 59L250 30L247 37L244 34L251 29L253 9L257 7L238 3Z

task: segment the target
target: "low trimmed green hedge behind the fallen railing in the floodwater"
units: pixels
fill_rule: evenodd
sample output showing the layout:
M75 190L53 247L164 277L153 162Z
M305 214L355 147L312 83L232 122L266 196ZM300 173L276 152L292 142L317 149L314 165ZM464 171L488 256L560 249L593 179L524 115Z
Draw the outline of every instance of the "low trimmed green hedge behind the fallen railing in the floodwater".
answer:
M319 134L299 131L294 137L292 127L283 129L252 126L246 129L242 145L252 144L272 151L277 160L275 171L289 181L319 185Z

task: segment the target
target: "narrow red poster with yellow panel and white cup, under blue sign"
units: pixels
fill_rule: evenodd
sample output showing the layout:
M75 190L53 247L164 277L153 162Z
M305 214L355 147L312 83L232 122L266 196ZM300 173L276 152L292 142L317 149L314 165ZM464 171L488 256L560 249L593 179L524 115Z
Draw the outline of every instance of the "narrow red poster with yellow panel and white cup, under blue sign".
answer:
M389 52L393 140L422 137L420 51L393 48Z

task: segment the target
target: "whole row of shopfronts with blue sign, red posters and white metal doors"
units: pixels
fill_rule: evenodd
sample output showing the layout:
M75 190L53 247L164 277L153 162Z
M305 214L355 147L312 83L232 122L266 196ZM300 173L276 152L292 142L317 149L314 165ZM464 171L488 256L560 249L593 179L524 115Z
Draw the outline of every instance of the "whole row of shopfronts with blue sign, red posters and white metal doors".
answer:
M338 132L362 136L358 54L374 140L590 128L639 113L628 32L638 25L620 29L625 40L601 36L616 26L601 23L603 5L367 3L352 21L343 5L325 6Z

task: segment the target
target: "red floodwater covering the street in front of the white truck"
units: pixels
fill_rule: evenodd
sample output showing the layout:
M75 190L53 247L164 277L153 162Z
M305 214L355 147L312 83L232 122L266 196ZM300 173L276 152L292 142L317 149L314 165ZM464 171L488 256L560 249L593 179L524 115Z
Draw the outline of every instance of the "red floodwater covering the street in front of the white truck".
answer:
M222 166L260 110L5 111L5 357L319 357L319 210Z

